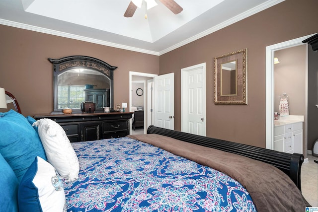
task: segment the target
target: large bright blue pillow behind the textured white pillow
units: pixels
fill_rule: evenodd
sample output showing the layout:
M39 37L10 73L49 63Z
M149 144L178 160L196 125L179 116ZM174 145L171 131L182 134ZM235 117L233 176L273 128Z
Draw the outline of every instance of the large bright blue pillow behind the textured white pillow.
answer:
M36 156L47 160L41 140L26 118L14 110L0 113L0 129L0 153L20 182Z

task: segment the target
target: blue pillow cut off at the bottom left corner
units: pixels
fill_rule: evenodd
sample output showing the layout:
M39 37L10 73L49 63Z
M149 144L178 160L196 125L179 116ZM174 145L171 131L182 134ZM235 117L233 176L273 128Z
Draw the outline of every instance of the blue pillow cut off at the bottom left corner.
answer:
M18 186L13 170L0 154L0 212L18 211Z

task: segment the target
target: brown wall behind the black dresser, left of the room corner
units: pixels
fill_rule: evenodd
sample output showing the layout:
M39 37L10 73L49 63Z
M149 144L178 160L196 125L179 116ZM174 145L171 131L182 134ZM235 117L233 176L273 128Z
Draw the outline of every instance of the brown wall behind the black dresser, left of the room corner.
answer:
M129 71L159 73L159 56L4 25L0 35L0 87L16 97L25 116L53 111L53 66L48 58L84 55L118 67L114 105L129 102Z

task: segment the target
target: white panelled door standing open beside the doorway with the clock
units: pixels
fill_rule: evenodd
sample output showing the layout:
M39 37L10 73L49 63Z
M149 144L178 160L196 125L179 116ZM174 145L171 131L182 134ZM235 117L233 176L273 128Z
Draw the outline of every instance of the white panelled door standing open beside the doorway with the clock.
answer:
M154 100L153 125L174 130L174 73L154 77Z

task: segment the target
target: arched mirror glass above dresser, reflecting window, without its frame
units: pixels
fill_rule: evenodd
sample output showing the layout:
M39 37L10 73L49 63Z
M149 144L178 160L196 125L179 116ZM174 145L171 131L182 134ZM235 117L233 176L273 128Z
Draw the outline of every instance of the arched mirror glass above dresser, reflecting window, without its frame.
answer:
M76 68L58 75L58 109L80 108L84 101L110 107L110 79L99 71Z

